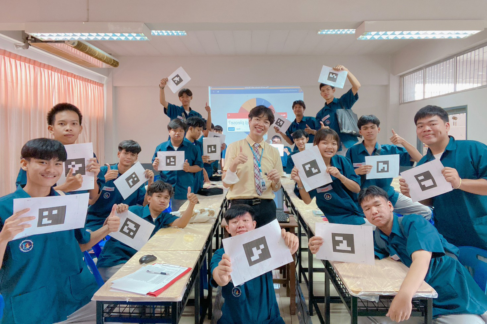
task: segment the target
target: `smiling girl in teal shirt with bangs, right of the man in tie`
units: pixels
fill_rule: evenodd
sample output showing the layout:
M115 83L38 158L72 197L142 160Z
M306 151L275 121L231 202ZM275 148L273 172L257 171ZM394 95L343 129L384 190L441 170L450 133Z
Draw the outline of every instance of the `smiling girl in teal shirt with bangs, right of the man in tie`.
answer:
M361 225L366 223L364 214L358 207L357 193L360 191L360 177L356 175L352 162L345 156L337 155L340 137L333 129L320 129L313 142L318 145L323 161L327 165L333 182L321 188L306 192L298 169L294 167L291 179L296 181L298 197L307 205L316 197L316 205L325 214L328 222Z

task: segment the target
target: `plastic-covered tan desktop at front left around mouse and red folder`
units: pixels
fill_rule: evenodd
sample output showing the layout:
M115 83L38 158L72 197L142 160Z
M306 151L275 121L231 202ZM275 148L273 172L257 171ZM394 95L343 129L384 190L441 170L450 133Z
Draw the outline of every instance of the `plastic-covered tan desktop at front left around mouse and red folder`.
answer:
M157 256L153 263L170 263L184 267L190 267L192 270L185 274L181 279L173 283L168 289L164 290L159 296L142 296L130 292L111 291L112 280L121 278L127 274L134 273L142 267L139 264L139 258L151 254ZM199 251L139 251L118 270L96 293L92 300L99 301L123 301L123 302L178 302L183 299L186 291L186 285L194 271L196 262L200 257Z

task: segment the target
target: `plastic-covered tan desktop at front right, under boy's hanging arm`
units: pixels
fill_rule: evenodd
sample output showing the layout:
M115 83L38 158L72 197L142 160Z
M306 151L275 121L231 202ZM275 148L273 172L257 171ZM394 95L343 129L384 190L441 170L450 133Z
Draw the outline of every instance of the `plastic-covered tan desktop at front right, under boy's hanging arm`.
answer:
M375 265L330 261L352 296L377 302L379 296L396 295L409 268L392 258L375 260ZM438 293L423 281L413 297L437 298Z

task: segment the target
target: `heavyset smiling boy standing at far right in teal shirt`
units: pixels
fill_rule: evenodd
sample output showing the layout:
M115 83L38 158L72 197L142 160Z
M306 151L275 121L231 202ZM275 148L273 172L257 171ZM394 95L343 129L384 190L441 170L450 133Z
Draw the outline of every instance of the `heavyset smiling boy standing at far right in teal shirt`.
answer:
M414 116L416 135L428 145L418 165L440 159L453 191L422 201L434 207L438 232L456 246L487 250L487 146L473 140L456 140L448 135L448 113L438 106L425 106ZM409 195L404 179L401 193Z

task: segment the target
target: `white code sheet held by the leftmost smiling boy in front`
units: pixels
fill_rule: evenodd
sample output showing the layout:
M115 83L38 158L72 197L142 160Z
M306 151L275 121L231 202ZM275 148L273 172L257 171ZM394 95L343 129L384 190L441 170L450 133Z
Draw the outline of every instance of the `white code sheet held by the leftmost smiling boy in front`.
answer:
M89 193L81 193L77 195L14 199L14 213L30 208L28 212L20 217L34 216L36 218L25 222L31 224L31 227L24 229L14 239L84 227L89 197Z

